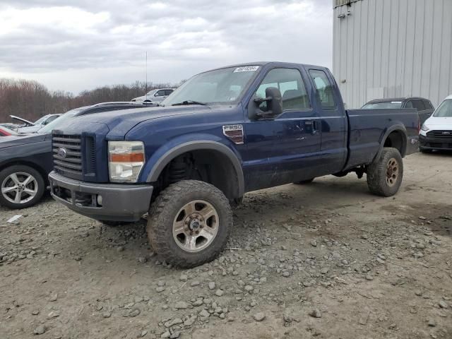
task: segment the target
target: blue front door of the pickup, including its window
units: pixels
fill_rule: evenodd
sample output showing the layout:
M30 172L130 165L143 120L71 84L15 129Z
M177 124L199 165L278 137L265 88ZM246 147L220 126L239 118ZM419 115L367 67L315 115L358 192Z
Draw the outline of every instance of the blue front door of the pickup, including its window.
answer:
M266 88L279 88L283 114L244 124L247 155L244 159L249 190L311 179L320 162L319 117L311 106L299 69L270 69L254 96ZM259 109L266 110L266 102Z

